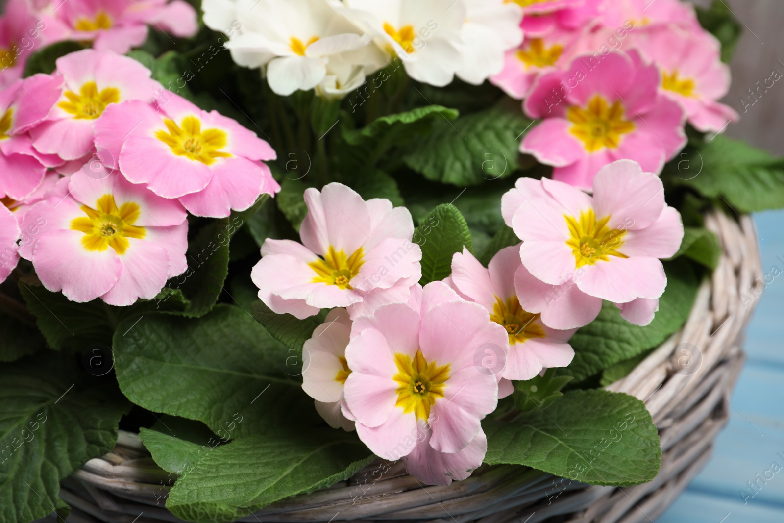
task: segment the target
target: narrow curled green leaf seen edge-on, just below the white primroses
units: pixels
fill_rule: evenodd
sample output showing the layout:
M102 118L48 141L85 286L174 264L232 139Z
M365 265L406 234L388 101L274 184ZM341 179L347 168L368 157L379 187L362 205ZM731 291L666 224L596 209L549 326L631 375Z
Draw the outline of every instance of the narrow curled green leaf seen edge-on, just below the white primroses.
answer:
M343 140L351 147L339 150L344 172L373 169L393 147L411 143L430 131L434 122L457 118L458 111L437 105L416 107L404 113L388 114L361 129L342 129ZM393 158L397 160L399 158ZM389 165L385 164L385 168Z

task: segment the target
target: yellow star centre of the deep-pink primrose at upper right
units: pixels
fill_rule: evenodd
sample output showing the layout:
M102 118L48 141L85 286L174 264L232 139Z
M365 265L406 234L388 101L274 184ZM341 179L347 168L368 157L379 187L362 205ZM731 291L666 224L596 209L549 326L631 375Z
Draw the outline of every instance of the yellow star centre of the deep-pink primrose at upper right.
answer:
M585 108L569 107L566 118L574 124L569 131L583 141L590 153L602 147L617 148L621 137L634 130L634 123L623 118L621 103L610 105L600 95L593 96Z

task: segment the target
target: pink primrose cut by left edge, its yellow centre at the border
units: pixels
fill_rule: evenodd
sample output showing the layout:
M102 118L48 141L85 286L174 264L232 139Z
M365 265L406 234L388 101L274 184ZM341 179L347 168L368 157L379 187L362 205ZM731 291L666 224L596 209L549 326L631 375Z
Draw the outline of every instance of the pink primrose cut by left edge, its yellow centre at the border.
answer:
M60 97L61 78L34 74L0 91L0 198L23 200L59 157L32 147L29 129L46 118Z

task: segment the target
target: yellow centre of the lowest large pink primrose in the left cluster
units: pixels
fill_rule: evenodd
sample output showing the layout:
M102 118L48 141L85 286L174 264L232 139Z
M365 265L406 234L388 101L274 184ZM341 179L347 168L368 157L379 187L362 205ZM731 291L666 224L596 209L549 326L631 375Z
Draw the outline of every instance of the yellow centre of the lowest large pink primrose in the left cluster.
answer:
M122 204L119 209L114 203L114 195L103 194L92 209L82 205L87 216L80 216L71 221L71 229L82 231L82 247L88 251L105 251L109 247L122 255L128 250L128 238L144 238L147 234L144 227L136 227L133 223L139 219L140 207L136 203Z

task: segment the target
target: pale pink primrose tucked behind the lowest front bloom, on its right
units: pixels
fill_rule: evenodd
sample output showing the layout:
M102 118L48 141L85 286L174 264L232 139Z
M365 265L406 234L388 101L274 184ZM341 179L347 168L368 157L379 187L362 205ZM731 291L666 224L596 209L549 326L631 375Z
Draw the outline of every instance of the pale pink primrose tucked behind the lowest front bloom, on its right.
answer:
M575 356L568 344L575 329L550 329L541 314L521 307L515 289L515 274L521 265L519 246L501 249L486 269L465 248L452 258L453 285L461 295L485 307L490 319L508 333L509 355L502 373L506 380L531 380L542 369L569 365ZM539 287L520 291L538 292Z

